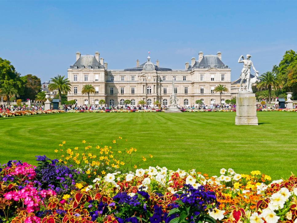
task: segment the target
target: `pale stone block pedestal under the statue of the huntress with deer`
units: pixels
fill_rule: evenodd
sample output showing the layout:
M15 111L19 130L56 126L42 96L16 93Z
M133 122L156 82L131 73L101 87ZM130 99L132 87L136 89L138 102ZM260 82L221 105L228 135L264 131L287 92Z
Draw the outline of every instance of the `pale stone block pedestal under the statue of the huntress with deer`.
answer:
M258 125L255 94L240 92L236 94L235 125Z

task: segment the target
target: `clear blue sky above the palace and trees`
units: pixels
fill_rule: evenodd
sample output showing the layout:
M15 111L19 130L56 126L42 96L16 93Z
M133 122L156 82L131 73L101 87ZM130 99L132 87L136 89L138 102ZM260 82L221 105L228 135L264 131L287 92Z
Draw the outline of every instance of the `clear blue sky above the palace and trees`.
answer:
M240 55L262 74L297 50L297 1L0 1L0 57L46 81L100 52L109 69L151 61L184 69L222 52L239 78Z

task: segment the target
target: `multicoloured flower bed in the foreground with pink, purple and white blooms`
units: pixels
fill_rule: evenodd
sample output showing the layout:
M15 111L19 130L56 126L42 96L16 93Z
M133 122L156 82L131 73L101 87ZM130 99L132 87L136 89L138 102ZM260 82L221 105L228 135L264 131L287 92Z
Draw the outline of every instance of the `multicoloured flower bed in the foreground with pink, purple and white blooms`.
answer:
M84 149L90 147L86 145ZM107 153L108 157L114 154L109 147L98 151ZM76 156L73 150L67 149L66 153L72 159ZM88 160L87 157L95 155L82 156L82 160ZM159 166L127 173L102 171L98 174L97 171L94 174L96 168L92 173L85 173L66 161L45 156L37 156L37 161L37 167L21 161L9 161L1 166L0 221L297 221L297 177L294 175L271 182L271 177L259 171L247 175L223 168L218 176L209 177L195 169L172 171ZM94 167L99 168L103 162L106 160L95 163Z

